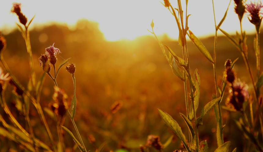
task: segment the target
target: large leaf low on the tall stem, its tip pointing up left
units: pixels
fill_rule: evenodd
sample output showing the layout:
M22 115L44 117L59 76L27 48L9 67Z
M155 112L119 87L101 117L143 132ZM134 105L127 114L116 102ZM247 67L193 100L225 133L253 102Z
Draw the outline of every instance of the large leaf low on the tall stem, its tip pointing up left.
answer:
M169 126L169 128L171 128L176 133L176 135L182 140L183 145L186 147L186 150L189 151L185 136L183 135L181 127L178 125L178 123L174 119L172 119L172 116L170 116L165 111L158 109L158 112L166 125Z

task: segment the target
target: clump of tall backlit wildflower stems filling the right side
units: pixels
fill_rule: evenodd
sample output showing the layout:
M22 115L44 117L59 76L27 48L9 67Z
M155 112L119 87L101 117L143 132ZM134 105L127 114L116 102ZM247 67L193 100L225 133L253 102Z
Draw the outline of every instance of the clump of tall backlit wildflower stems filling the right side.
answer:
M229 95L226 101L226 105L228 106L227 108L224 107L224 109L228 111L239 111L242 114L242 118L237 121L235 120L237 126L243 133L246 135L246 137L255 144L257 150L263 151L262 145L259 143L257 136L255 136L253 128L251 128L251 125L249 123L249 120L246 116L245 112L245 102L249 98L249 93L248 93L248 86L245 84L245 82L241 82L238 78L236 78L236 73L233 71L233 67L235 63L237 62L238 58L231 62L231 60L227 60L225 63L225 73L223 75L223 82L221 85L221 88L217 86L217 74L216 74L216 48L217 48L217 31L220 30L222 33L224 33L229 40L232 41L232 43L235 44L235 46L239 49L241 54L243 55L244 61L246 63L246 67L248 71L250 72L250 79L252 80L252 84L254 86L254 96L257 98L257 104L258 104L258 111L260 113L259 116L259 121L261 124L261 133L263 136L263 130L262 130L262 114L258 102L258 97L260 95L259 90L262 85L262 80L263 80L263 74L259 75L259 29L260 29L260 23L261 23L261 8L263 7L261 2L251 2L245 4L244 1L242 0L234 0L235 2L235 12L239 17L240 21L240 26L241 26L241 36L237 35L236 37L238 40L235 40L230 36L228 33L220 29L220 26L224 22L228 8L230 5L228 5L228 8L226 9L226 12L219 22L219 24L216 24L216 17L214 13L214 20L215 20L215 43L214 43L214 56L210 55L209 51L206 49L206 47L202 44L202 42L194 35L194 33L189 30L191 28L191 25L188 25L188 17L190 15L187 14L187 4L188 0L186 2L186 10L184 11L185 15L185 20L183 20L183 10L181 6L181 0L177 0L177 5L178 8L173 8L171 3L167 0L164 0L163 4L166 8L169 9L171 12L172 16L175 17L177 27L179 30L179 45L182 47L183 50L183 57L178 57L174 51L172 51L168 46L165 44L162 44L157 36L154 33L154 22L152 20L151 23L151 28L152 31L148 30L150 33L154 34L154 36L157 39L157 42L159 43L161 50L163 54L165 55L165 58L168 60L170 66L172 67L173 73L180 78L183 83L184 83L184 90L185 90L185 102L186 102L186 116L183 113L180 113L180 116L183 118L185 121L187 127L188 127L188 133L189 133L189 138L187 142L187 138L184 136L183 131L181 130L179 124L170 116L168 113L165 111L158 109L159 114L161 115L161 118L164 120L164 122L171 128L176 135L182 140L182 143L188 152L204 152L208 151L208 145L206 141L199 142L199 137L198 137L198 126L202 125L202 118L206 115L206 113L211 110L212 108L214 109L215 112L215 118L217 122L217 146L218 148L215 150L216 152L223 152L223 151L228 151L230 147L230 141L225 142L223 138L223 121L222 121L222 114L221 114L221 101L224 96L225 88L227 84L231 87L229 89ZM213 1L212 1L213 2ZM214 6L213 6L214 8ZM171 11L172 10L172 11ZM248 60L247 60L247 47L246 47L246 33L242 32L242 24L241 20L243 19L244 13L248 13L250 18L250 22L253 23L256 26L257 30L257 38L254 39L254 50L256 53L257 57L257 83L255 83L253 74L251 71L251 68L249 66ZM177 16L178 14L178 16ZM185 24L184 24L185 22ZM188 27L189 26L189 27ZM190 40L194 43L194 45L198 48L200 53L206 57L207 60L209 60L212 65L213 65L213 74L214 74L214 80L215 80L215 94L212 97L212 101L208 102L205 107L201 111L201 115L197 117L196 110L198 108L199 104L199 96L200 96L200 76L198 73L198 70L196 69L193 76L190 74L190 59L188 55L188 49L187 49L187 40L186 40L186 35L189 36ZM168 52L165 50L167 48ZM187 81L189 81L190 85L190 93L187 92ZM190 97L191 101L191 106L189 109L188 105L188 94ZM234 110L233 110L234 109ZM252 108L250 108L250 113L253 114L251 111ZM192 120L194 120L195 124L195 129L192 126ZM245 123L243 123L245 122ZM253 115L251 116L251 122L253 122ZM236 149L234 149L235 151Z

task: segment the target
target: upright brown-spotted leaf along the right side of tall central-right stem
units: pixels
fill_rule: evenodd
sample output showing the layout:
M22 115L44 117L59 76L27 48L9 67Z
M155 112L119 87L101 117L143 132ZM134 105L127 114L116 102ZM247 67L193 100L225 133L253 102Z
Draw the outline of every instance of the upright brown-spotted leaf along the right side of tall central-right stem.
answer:
M197 111L198 104L199 104L199 96L200 96L200 76L198 73L198 70L196 69L194 71L194 76L193 76L193 83L195 86L195 92L194 92L194 110L195 112ZM189 112L189 118L192 121L194 119L194 110L193 110L193 105L191 104L190 112Z

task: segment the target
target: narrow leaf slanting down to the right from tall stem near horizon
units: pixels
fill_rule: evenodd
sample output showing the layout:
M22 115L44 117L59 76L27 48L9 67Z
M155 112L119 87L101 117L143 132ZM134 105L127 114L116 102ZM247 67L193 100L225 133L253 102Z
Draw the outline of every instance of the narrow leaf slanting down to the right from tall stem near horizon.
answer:
M198 50L200 51L200 53L206 57L210 62L214 63L210 53L208 52L208 50L206 49L206 47L203 45L203 43L190 31L189 34L187 33L187 35L189 36L189 38L192 40L192 42L194 43L194 45L198 48Z

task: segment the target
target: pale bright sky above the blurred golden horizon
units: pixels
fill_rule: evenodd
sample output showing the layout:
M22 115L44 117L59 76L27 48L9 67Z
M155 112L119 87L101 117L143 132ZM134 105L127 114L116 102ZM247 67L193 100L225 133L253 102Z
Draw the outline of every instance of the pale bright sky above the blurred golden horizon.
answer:
M51 22L67 23L70 28L74 28L78 19L85 18L99 23L99 29L106 40L132 40L138 36L151 35L147 29L151 30L150 23L154 19L154 31L157 35L167 33L172 39L178 39L175 18L158 0L0 0L0 31L3 33L17 28L15 22L19 22L17 16L10 13L13 2L22 4L21 10L28 20L36 14L31 28L49 25ZM176 0L170 2L177 8ZM185 1L181 2L185 7ZM229 0L214 0L217 24L224 16L228 4ZM189 0L187 14L191 14L188 27L198 38L214 35L212 0ZM236 30L240 32L233 0L220 28L230 34L234 34ZM243 29L255 34L255 27L247 17L243 19ZM218 33L222 35L220 31Z

